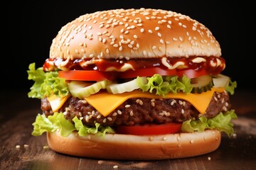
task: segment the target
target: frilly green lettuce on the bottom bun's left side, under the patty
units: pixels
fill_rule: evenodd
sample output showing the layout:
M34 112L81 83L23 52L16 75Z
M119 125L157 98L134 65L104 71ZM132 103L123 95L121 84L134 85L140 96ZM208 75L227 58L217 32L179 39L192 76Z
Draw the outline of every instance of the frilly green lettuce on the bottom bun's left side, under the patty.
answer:
M46 118L46 115L38 114L33 125L33 136L40 136L43 132L55 132L58 130L60 135L68 137L73 131L77 131L80 136L96 134L104 136L106 133L114 133L114 130L109 126L103 127L100 123L95 123L95 127L87 127L82 124L82 120L77 117L73 118L73 123L66 120L63 113L54 113Z

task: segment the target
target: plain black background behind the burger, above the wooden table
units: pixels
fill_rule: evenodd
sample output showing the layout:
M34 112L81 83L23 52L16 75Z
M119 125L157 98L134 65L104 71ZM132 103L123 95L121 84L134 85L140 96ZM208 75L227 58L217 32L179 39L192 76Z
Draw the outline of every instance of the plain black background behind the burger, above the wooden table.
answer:
M90 3L90 4L88 4ZM41 67L58 30L80 15L114 8L162 8L190 16L210 29L226 60L223 74L252 89L255 79L255 18L249 1L32 1L8 4L7 55L2 54L2 85L29 91L28 64ZM2 33L5 35L6 33ZM3 51L2 51L3 52ZM5 61L5 62L4 62ZM5 88L5 89L6 89Z

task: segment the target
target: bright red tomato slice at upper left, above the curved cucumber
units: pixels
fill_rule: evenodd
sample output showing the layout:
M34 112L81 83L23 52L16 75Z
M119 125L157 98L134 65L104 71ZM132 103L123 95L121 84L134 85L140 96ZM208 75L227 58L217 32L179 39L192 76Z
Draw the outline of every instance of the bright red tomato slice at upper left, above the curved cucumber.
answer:
M58 76L67 80L101 81L104 79L113 80L117 77L117 74L113 72L99 72L95 70L70 70L59 71Z

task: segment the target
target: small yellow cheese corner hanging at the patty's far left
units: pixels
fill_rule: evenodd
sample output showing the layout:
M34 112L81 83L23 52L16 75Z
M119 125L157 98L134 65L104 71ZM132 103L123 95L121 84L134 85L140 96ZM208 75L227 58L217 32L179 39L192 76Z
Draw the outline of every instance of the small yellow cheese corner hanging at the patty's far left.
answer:
M52 108L53 112L55 112L58 111L61 108L61 106L63 106L63 104L65 103L65 101L68 100L69 97L70 94L64 97L58 97L56 95L53 95L48 97L47 100L49 101L50 107Z

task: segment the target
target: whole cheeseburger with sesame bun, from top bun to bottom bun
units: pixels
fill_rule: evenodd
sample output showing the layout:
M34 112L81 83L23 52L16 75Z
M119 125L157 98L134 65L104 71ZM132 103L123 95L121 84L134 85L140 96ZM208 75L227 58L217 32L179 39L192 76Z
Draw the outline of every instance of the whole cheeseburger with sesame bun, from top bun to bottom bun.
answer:
M154 8L87 13L63 26L28 97L32 135L77 157L157 160L215 151L237 118L220 44L189 16Z

